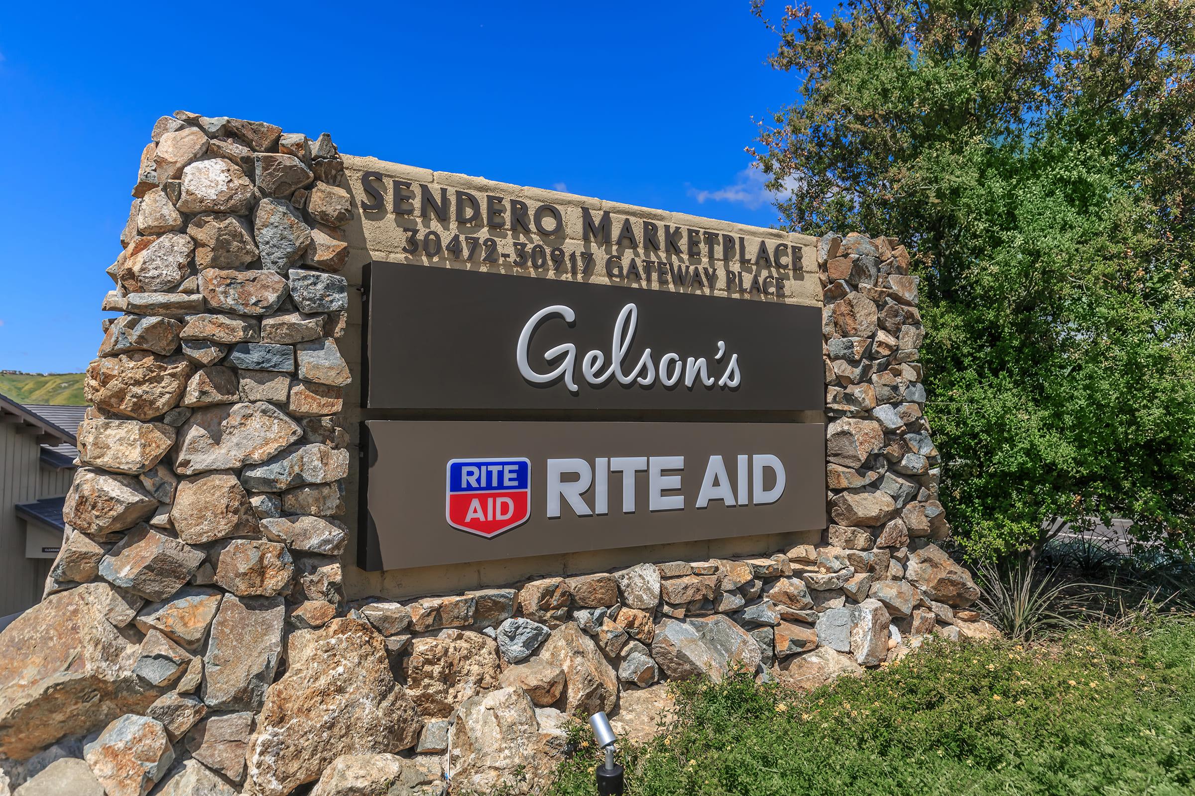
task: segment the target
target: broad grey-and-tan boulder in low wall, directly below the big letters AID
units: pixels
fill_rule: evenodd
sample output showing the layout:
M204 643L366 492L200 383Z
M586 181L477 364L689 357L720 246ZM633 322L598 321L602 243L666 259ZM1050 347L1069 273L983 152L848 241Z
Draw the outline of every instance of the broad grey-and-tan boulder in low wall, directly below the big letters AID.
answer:
M755 640L722 615L664 619L656 628L651 658L672 679L709 677L715 681L733 667L754 672L760 664Z

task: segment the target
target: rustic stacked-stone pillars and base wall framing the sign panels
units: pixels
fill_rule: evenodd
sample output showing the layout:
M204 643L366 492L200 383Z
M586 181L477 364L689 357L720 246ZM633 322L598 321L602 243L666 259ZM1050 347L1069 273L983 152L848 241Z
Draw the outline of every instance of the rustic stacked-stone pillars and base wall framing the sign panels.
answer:
M821 544L345 604L354 211L335 144L177 112L133 195L67 537L44 601L0 635L17 792L433 794L446 766L480 792L521 770L527 791L570 715L618 716L664 680L741 667L810 689L925 634L993 633L934 544L949 526L896 241L820 242Z

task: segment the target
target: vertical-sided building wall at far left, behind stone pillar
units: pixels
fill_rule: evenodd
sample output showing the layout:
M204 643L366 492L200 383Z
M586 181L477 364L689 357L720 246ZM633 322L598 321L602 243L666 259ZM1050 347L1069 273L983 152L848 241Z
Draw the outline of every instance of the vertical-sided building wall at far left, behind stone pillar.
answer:
M41 463L36 434L0 424L0 616L36 605L54 563L25 557L25 520L17 517L17 504L65 495L73 475L73 469Z

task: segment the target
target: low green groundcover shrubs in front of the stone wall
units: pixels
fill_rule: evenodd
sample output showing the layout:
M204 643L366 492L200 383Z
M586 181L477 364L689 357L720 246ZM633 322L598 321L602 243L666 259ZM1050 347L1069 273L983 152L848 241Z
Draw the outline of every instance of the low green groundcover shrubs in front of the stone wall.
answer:
M1195 792L1185 615L1031 644L936 640L809 695L739 674L684 684L678 702L667 734L624 751L629 794ZM596 792L596 760L581 740L554 792Z

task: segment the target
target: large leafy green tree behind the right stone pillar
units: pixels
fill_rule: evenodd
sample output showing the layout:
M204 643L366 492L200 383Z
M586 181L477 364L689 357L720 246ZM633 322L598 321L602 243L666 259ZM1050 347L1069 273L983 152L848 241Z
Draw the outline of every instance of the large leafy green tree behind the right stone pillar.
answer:
M901 239L942 500L974 555L1052 518L1195 547L1195 0L847 0L767 19L782 223Z

